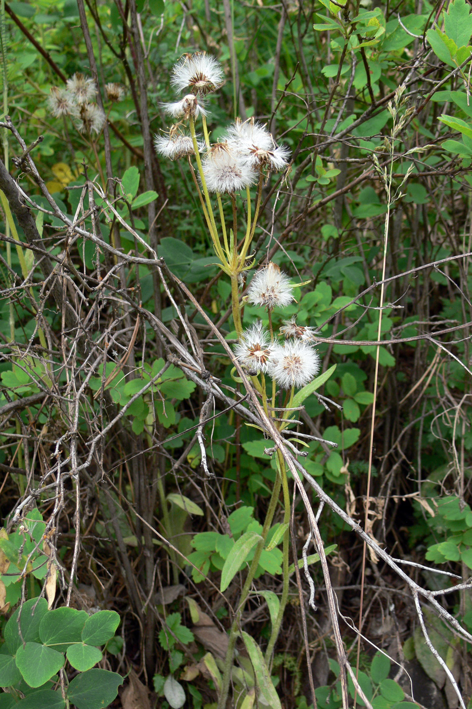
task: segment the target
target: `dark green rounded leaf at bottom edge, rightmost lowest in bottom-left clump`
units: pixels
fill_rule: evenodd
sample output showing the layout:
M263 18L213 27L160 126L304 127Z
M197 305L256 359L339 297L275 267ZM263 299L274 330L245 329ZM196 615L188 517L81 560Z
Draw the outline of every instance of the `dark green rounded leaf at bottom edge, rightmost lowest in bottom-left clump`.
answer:
M67 698L77 709L104 709L116 698L120 684L123 677L116 672L89 669L74 677L67 689Z

